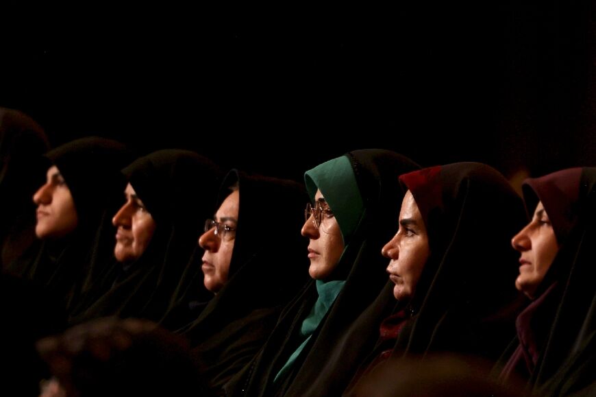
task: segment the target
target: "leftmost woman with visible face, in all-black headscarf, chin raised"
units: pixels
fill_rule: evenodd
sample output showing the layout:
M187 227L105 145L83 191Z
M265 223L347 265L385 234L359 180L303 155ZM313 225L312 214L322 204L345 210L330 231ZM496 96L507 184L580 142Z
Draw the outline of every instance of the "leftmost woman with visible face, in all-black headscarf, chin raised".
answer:
M45 154L47 177L34 195L38 241L9 269L45 285L70 310L88 272L88 263L105 246L96 245L98 229L124 187L119 169L129 162L124 145L110 139L87 137Z

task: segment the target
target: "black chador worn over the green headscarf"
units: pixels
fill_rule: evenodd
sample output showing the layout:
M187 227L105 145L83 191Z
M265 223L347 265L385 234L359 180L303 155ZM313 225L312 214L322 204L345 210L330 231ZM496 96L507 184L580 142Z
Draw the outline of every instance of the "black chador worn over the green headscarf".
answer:
M353 365L360 363L362 352L368 351L367 346L372 348L367 345L370 341L362 340L356 345L345 346L343 335L385 285L386 259L380 250L395 233L405 193L397 178L401 173L419 169L419 166L404 156L383 149L356 150L345 157L356 176L364 204L358 226L351 232L349 244L330 276L331 279L345 280L345 285L290 372L274 384L273 379L300 343L296 340L297 332L318 297L316 281L310 280L306 289L286 307L264 349L245 372L226 386L229 394L334 395L338 385L349 380L346 376ZM338 350L343 352L343 357L336 361L332 354Z

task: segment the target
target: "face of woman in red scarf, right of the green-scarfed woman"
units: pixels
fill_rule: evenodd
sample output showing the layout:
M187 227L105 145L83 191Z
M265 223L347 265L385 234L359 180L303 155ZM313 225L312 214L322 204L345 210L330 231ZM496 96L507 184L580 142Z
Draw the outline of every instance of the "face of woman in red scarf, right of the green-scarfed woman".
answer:
M393 296L400 302L409 302L430 256L426 225L409 190L401 202L399 230L381 253L391 260L387 272L390 280L395 282Z

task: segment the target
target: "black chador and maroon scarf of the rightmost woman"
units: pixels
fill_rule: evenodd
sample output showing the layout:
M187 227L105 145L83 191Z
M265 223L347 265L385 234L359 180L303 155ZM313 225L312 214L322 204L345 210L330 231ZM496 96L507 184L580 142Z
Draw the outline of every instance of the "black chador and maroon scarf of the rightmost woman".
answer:
M532 335L536 346L537 360L521 376L529 376L528 389L537 396L593 394L595 184L596 168L589 167L564 169L524 182L528 211L534 210L538 200L543 203L560 245L534 302L520 315L527 317L530 313L529 326L518 328L524 335ZM519 351L520 338L518 335L514 339L501 365L512 361Z

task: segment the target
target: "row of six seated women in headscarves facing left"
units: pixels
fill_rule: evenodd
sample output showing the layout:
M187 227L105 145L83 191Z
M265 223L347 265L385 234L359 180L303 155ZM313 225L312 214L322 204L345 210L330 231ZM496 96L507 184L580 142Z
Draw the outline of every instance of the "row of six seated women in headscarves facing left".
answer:
M594 391L596 169L529 179L522 200L487 165L384 149L304 187L127 156L98 138L45 154L38 241L8 266L73 326L35 345L43 395Z

